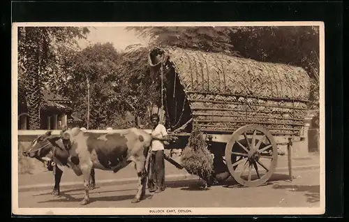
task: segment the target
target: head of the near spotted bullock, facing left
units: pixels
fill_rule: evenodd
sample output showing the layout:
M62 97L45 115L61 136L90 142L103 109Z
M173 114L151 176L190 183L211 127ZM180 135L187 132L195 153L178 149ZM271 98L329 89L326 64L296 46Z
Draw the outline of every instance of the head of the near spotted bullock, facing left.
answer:
M54 155L53 148L57 147L56 141L60 138L60 135L51 135L51 131L47 131L45 134L39 135L38 138L34 139L22 154L23 156L36 158L42 162L52 161Z

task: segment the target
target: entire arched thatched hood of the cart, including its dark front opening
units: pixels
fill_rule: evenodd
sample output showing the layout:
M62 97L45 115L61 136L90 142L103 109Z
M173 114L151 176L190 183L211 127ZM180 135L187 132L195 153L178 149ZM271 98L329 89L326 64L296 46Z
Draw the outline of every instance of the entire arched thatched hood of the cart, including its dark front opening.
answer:
M310 78L303 68L177 47L154 48L149 65L163 76L172 130L190 132L190 119L216 132L260 124L274 135L299 135L304 125Z

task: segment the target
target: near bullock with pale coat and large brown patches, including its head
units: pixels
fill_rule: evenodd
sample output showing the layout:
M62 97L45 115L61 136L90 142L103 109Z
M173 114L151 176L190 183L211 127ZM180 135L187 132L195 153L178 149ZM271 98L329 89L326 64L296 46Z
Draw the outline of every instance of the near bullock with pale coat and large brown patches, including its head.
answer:
M48 134L50 133L47 132ZM144 198L147 182L145 165L151 140L154 139L149 133L138 128L105 134L72 128L61 135L44 136L41 140L36 140L25 155L45 161L61 161L60 151L54 145L60 138L68 151L66 164L71 166L77 176L82 175L84 179L84 198L81 205L89 203L89 182L93 169L117 172L131 162L135 163L138 175L138 191L132 202L139 202Z

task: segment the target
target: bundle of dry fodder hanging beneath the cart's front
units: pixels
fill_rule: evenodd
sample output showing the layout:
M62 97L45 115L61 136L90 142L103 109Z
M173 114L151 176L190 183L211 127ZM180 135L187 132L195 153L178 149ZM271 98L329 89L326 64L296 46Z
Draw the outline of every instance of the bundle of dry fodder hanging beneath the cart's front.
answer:
M207 149L207 142L198 126L193 127L188 145L181 153L181 164L192 175L198 175L207 184L211 184L214 156Z

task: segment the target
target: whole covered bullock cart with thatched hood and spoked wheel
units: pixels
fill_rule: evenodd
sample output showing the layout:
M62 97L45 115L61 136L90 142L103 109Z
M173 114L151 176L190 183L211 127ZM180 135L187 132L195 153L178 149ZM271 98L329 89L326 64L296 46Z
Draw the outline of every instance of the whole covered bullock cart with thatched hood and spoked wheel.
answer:
M154 47L153 77L161 81L165 122L183 149L193 126L214 154L216 175L243 186L265 184L276 170L278 147L304 140L310 79L304 69L226 54ZM182 167L170 156L166 159Z

